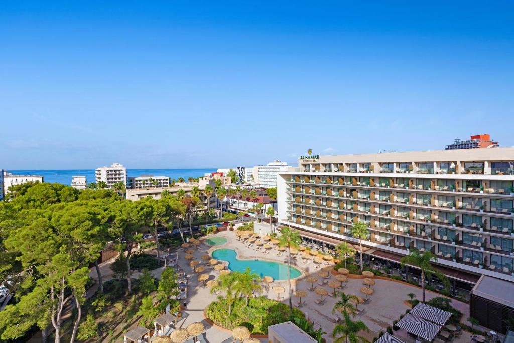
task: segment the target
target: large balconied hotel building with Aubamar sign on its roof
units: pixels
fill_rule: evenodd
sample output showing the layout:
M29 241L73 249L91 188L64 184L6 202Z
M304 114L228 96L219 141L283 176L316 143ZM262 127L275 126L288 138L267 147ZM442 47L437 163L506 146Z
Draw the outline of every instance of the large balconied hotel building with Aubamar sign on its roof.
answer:
M368 261L430 250L468 291L483 274L514 281L513 202L512 147L301 156L278 177L280 223L332 246L366 223Z

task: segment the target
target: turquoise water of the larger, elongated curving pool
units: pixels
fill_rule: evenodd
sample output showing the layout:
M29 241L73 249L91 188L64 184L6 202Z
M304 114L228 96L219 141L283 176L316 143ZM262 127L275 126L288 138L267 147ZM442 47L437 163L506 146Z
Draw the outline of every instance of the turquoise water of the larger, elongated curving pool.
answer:
M244 272L249 267L252 272L260 277L271 276L274 280L287 280L287 264L259 259L240 260L234 249L221 248L212 252L212 257L228 262L228 268L237 272ZM302 273L295 267L290 267L291 279L297 278Z

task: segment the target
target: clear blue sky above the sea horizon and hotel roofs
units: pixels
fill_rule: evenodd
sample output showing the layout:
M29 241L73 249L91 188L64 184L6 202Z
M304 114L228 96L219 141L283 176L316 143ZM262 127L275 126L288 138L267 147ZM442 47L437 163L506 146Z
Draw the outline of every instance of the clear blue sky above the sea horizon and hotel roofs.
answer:
M4 0L0 169L514 146L514 3Z

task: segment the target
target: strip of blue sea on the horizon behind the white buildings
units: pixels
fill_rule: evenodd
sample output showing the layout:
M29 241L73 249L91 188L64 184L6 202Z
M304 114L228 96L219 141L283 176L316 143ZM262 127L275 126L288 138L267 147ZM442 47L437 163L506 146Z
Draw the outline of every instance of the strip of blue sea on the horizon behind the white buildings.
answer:
M216 169L127 169L128 177L140 175L168 176L171 179L183 177L200 177L205 173L213 173ZM69 186L71 177L82 175L86 177L87 183L95 182L95 169L55 169L55 170L8 170L13 175L41 175L44 182L58 183Z

